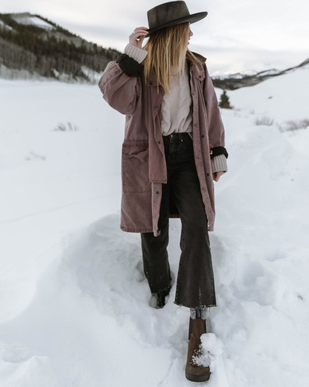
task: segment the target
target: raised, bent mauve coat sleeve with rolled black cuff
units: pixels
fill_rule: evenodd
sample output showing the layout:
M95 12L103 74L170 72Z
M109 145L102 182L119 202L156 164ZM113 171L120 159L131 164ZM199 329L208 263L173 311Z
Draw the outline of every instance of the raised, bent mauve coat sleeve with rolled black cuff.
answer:
M131 115L141 94L141 65L126 54L107 64L98 86L105 101L122 114Z

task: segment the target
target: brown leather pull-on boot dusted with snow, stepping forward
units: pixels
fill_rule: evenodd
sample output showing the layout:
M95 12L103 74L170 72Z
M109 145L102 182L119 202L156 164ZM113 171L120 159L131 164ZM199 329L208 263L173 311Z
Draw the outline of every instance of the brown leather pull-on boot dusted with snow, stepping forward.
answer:
M190 317L188 357L185 375L191 382L205 382L210 377L209 366L205 366L203 361L198 360L203 356L202 342L200 341L200 336L203 333L206 333L205 320L198 318L192 320Z

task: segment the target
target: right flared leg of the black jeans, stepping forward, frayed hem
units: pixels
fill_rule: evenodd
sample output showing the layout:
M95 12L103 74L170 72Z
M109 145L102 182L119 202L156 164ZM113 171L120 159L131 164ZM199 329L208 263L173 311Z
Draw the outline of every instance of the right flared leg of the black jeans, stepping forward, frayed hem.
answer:
M182 156L171 174L171 190L182 223L175 303L190 308L216 306L208 221L194 153Z

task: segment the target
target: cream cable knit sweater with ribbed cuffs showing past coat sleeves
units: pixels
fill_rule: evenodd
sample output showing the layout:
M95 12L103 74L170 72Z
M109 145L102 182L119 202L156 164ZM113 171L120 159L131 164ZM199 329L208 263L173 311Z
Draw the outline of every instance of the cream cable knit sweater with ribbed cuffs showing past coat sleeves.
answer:
M138 63L141 63L146 58L148 51L128 43L124 53ZM179 78L179 83L172 75L170 95L164 94L161 102L161 113L161 131L163 136L173 132L187 132L192 138L192 97L187 67L184 77ZM228 170L224 154L212 158L211 168L212 172L226 172Z

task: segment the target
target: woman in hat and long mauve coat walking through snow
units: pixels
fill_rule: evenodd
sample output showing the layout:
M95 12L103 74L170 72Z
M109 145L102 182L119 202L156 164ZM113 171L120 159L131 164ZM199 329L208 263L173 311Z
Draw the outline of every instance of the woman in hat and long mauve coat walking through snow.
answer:
M190 23L206 15L190 15L183 1L149 10L149 29L134 29L124 54L107 65L99 82L107 103L126 115L120 227L141 233L144 272L157 308L171 288L168 220L182 222L174 302L190 308L185 375L194 382L210 375L197 358L206 308L216 306L208 236L213 180L227 171L228 157L205 58L188 50Z

